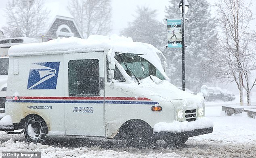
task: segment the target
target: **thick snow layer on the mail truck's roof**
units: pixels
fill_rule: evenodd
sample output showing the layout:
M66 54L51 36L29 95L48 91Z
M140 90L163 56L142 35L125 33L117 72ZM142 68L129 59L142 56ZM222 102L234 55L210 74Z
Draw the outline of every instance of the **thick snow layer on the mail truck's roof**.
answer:
M133 42L131 38L112 35L91 35L88 39L77 37L58 38L43 43L29 43L10 47L8 56L45 55L111 49L119 53L155 54L160 53L153 45ZM156 54L155 54L156 55Z

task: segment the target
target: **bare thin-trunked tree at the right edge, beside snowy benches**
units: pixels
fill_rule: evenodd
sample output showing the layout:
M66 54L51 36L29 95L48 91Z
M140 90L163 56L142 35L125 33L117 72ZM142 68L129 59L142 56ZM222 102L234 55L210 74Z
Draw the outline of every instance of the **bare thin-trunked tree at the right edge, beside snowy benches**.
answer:
M251 4L251 3L250 3ZM244 0L220 0L216 6L220 15L218 50L212 57L216 74L221 78L235 81L243 105L243 88L247 92L247 104L250 105L250 93L255 80L250 86L250 73L255 70L255 49L249 27L252 12Z

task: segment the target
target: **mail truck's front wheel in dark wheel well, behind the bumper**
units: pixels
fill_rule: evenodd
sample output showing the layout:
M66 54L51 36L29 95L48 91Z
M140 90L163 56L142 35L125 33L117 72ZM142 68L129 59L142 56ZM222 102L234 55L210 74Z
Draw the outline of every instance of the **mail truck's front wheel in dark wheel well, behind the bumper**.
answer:
M155 143L153 129L144 121L128 121L120 128L119 140L126 140L127 146L151 147Z

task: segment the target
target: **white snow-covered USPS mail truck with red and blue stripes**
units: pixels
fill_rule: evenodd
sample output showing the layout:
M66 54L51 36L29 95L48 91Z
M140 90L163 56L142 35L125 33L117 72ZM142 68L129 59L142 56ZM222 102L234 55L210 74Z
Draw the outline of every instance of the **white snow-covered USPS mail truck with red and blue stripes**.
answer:
M79 136L139 146L211 133L203 97L170 84L157 53L99 35L13 46L0 128L23 129L28 142Z

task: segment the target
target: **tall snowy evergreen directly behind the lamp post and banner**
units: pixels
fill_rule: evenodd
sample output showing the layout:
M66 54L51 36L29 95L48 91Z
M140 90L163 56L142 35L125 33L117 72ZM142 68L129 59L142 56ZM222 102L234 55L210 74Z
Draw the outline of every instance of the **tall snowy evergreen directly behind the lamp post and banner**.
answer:
M170 0L166 6L166 18L181 18L178 8L180 0ZM211 17L210 4L206 0L190 0L189 10L185 14L185 78L186 87L198 92L202 84L212 78L208 68L209 54L212 54L212 42L216 41L216 19ZM167 27L166 27L167 28ZM166 42L167 43L167 42ZM166 48L162 50L168 59L167 75L176 86L182 85L182 49ZM170 67L171 66L171 67ZM174 66L174 67L172 67Z

